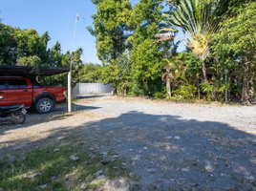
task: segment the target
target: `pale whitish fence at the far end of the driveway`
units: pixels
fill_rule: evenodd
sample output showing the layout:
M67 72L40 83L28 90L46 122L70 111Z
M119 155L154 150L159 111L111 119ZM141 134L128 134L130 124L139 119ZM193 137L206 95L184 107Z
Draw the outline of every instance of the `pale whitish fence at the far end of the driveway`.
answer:
M106 94L111 93L113 90L113 84L104 83L77 83L75 85L74 94L79 95L91 95L91 94Z

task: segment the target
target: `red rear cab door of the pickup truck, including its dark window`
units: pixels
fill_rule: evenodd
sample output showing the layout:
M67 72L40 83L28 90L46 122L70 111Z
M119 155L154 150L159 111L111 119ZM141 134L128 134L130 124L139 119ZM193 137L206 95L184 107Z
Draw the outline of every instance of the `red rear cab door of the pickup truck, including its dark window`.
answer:
M26 107L32 105L32 82L25 78L8 79L8 102L10 105L24 104Z

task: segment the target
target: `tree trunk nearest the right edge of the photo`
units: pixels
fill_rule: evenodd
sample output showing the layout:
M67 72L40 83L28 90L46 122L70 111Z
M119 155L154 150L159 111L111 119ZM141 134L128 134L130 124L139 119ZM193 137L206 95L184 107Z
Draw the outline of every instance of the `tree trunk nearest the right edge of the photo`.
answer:
M242 103L248 104L249 103L249 64L247 59L245 58L244 64L244 76L243 76L243 92L242 92Z

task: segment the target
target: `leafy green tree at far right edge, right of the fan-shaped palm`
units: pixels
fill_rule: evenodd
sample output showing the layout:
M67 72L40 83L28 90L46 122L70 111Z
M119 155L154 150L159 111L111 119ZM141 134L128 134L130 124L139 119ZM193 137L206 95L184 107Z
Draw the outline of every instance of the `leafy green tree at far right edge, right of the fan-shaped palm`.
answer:
M234 9L232 14L224 20L221 32L215 35L213 51L219 54L223 68L229 74L233 72L242 76L242 101L247 102L255 94L256 3Z

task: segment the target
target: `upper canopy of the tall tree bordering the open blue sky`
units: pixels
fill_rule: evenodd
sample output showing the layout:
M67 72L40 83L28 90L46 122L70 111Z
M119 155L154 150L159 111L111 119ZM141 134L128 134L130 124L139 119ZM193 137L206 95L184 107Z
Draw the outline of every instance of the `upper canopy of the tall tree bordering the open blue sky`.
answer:
M117 59L126 49L129 36L128 20L132 6L129 0L92 1L96 4L94 28L87 29L96 36L96 50L103 63Z

